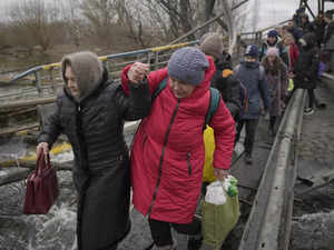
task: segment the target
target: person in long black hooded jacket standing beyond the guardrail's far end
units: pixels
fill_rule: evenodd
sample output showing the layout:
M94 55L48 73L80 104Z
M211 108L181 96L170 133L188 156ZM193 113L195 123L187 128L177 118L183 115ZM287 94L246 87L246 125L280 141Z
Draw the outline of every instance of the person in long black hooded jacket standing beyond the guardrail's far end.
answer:
M316 47L315 34L310 32L299 39L302 50L294 67L294 90L307 89L308 107L305 109L305 114L313 113L314 106L314 89L316 88L320 53ZM294 91L293 90L293 91Z

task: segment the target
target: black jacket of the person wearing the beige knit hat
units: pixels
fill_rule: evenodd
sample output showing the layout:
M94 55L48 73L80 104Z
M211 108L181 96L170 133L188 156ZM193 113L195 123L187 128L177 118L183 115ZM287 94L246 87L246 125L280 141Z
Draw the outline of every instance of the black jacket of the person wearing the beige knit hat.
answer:
M232 117L236 117L242 108L240 101L240 82L233 74L223 77L223 71L232 69L229 62L219 60L216 63L216 72L212 78L212 87L219 90L223 100L229 110Z

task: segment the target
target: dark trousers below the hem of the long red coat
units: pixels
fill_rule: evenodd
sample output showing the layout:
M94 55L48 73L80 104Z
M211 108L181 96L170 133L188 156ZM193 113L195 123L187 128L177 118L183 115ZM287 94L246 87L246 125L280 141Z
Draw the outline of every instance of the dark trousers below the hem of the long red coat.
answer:
M154 219L148 219L151 238L157 247L171 246L173 237L170 228L175 231L189 236L198 236L202 232L202 222L194 217L194 221L188 224L177 224Z

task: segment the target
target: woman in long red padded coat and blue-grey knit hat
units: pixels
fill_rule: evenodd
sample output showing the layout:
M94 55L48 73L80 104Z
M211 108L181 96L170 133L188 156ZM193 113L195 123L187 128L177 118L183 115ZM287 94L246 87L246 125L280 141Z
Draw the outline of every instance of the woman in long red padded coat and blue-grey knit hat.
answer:
M132 202L148 217L153 249L175 249L170 227L191 234L188 249L198 249L195 244L200 242L200 221L194 214L205 160L203 128L215 70L210 57L187 47L174 52L167 68L147 76L151 93L167 79L131 149ZM148 64L140 62L126 67L121 77L124 89L129 81L145 78L147 71ZM224 179L230 164L235 124L222 98L209 124L215 131L215 173Z

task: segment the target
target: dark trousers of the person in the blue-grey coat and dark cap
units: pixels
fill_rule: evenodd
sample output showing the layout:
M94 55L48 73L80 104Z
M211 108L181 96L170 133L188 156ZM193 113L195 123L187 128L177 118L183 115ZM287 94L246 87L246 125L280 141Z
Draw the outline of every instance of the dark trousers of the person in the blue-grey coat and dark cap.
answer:
M246 124L246 137L245 137L245 153L252 156L254 141L255 141L255 133L258 124L258 119L245 119L239 120L237 124L237 134L235 141L237 142L240 138L240 132Z

